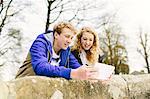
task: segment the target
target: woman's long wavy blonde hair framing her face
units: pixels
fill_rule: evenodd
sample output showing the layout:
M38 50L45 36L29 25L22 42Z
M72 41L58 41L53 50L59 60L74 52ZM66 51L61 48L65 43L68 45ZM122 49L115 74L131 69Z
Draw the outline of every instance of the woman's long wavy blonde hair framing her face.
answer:
M92 47L88 51L86 51L87 60L90 62L90 64L94 64L95 62L98 61L98 57L99 57L99 38L97 32L95 32L92 28L83 27L80 30L80 32L77 34L75 44L72 47L72 51L77 50L78 52L81 52L82 50L84 50L81 44L81 37L84 32L91 33L94 36Z

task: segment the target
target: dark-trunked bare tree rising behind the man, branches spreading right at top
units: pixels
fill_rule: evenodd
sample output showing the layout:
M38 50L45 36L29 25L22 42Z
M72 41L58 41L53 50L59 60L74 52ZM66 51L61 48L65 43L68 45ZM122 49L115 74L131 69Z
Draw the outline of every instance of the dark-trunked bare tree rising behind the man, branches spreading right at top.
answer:
M86 20L85 17L79 17L79 15L87 10L96 8L92 2L82 2L83 0L47 0L47 19L45 31L48 30L50 24L61 18L62 15L70 16L67 21L77 20L79 23ZM74 6L74 4L78 4ZM72 12L72 15L68 15L67 12ZM78 24L79 24L78 23Z

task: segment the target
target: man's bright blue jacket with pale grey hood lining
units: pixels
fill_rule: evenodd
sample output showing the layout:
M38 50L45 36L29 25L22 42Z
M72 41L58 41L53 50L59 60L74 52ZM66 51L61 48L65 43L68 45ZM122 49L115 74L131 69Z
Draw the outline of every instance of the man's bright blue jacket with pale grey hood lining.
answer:
M78 68L80 64L68 47L66 50L60 51L61 61L59 66L51 65L53 39L53 31L48 31L40 34L33 42L30 48L33 70L36 75L70 79L71 69ZM48 59L48 52L50 53L50 59Z

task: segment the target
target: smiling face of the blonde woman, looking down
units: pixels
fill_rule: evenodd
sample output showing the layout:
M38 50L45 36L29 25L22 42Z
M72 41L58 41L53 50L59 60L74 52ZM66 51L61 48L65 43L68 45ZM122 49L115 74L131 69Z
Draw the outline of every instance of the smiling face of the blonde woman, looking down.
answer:
M81 46L84 50L89 50L93 46L94 35L89 32L84 32L81 37Z

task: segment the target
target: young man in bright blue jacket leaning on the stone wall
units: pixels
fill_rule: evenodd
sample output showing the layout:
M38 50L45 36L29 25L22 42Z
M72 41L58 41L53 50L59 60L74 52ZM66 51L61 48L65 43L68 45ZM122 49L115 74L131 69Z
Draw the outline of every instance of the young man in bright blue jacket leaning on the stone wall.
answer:
M33 42L28 57L16 76L40 75L66 79L90 79L93 69L80 66L70 52L69 44L76 34L73 25L58 23L53 31L39 35Z

